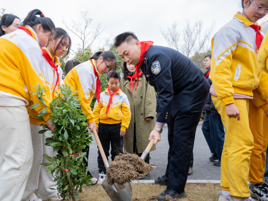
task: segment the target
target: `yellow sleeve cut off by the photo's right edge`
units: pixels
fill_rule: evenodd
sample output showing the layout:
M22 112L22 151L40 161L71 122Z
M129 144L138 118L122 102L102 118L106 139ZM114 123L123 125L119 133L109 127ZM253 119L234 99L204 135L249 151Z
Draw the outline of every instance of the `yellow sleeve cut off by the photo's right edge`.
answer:
M259 53L258 53L258 61L261 69L268 73L268 34L265 36L262 41Z

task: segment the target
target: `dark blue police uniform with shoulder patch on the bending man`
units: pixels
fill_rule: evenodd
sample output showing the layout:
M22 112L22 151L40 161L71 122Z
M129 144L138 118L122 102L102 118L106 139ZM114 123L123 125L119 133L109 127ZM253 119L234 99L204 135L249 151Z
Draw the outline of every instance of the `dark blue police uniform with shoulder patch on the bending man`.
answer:
M210 84L190 59L168 47L151 46L140 68L159 96L157 121L169 123L167 188L183 192Z

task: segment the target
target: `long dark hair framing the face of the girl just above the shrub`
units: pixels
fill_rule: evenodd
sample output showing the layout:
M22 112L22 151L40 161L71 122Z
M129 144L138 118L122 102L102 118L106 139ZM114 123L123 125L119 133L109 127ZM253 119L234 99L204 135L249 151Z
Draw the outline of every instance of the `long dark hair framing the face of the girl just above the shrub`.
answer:
M62 46L64 46L65 44L66 44L66 42L67 42L67 40L69 39L69 46L68 46L68 48L66 49L66 52L65 52L65 54L61 57L61 59L64 59L65 57L67 57L68 56L68 54L70 53L70 47L71 47L71 37L68 35L68 33L64 30L64 29L62 29L62 28L56 28L56 33L55 33L55 35L54 35L54 40L56 40L56 42L57 42L57 40L60 38L60 37L62 37L61 39L60 39L60 41L58 42L58 44L57 44L57 46L56 47L54 47L54 53L56 52L56 50L58 50L58 49L60 49ZM47 46L49 45L49 43L47 44Z

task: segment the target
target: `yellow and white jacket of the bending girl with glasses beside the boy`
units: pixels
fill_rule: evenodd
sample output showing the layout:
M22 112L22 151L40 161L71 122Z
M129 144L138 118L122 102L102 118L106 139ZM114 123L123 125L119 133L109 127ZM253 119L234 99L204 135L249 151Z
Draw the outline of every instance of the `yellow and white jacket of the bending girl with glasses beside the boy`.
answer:
M93 60L96 66L96 61ZM99 72L96 69L98 76ZM94 122L94 115L90 108L91 101L96 92L96 79L94 66L90 60L75 66L65 77L64 84L70 85L72 91L78 91L78 100L81 104L81 109L87 116L88 123Z

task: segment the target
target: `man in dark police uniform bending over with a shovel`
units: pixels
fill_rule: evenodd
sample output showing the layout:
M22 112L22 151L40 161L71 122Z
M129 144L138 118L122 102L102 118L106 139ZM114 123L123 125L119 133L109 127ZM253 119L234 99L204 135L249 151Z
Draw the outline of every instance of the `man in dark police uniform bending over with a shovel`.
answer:
M167 188L157 199L165 201L165 196L185 198L195 131L210 84L190 59L171 48L153 45L152 41L140 42L132 32L116 36L115 46L124 61L136 65L136 76L141 68L159 96L157 122L149 141L154 138L156 145L161 140L164 123L169 123L167 170L164 176L155 180Z

